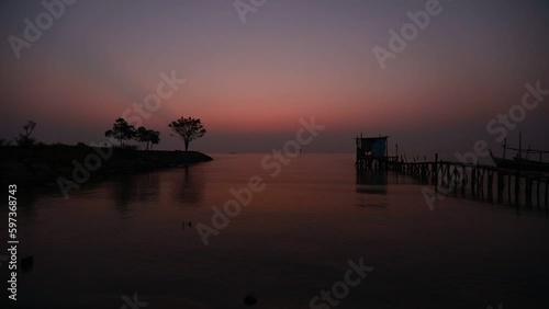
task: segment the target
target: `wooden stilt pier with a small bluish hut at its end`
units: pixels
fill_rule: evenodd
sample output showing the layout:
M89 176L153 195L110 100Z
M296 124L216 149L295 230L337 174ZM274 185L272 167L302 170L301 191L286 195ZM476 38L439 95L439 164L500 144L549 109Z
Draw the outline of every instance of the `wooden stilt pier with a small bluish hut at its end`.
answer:
M389 136L362 137L362 134L355 138L357 173L366 170L394 171L434 186L435 192L439 194L509 204L517 208L544 207L548 211L548 172L439 161L438 153L435 154L434 161L427 161L425 157L424 162L407 162L405 154L399 158L399 145L395 145L396 156L389 156L388 139ZM520 147L517 150L520 153ZM526 150L527 154L529 151L531 150Z

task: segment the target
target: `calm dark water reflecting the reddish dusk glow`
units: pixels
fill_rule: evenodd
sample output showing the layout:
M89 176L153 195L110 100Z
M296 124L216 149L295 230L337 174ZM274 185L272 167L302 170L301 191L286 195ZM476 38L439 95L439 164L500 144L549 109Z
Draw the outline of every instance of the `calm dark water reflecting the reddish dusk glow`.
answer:
M253 308L549 308L545 211L452 197L430 210L422 185L357 178L349 154L303 154L276 176L264 157L214 156L88 184L69 199L20 187L19 254L33 254L34 267L5 302L2 262L2 304L245 308L250 294ZM198 229L212 227L212 206L253 176L262 191L204 245ZM373 268L357 273L349 260Z

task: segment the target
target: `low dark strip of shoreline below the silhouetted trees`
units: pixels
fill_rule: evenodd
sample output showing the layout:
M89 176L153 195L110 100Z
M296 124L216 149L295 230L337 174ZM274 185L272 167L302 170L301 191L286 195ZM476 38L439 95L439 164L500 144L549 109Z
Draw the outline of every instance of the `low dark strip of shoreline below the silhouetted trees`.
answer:
M134 150L86 145L0 147L0 182L18 185L57 185L57 180L101 180L206 162L199 151Z

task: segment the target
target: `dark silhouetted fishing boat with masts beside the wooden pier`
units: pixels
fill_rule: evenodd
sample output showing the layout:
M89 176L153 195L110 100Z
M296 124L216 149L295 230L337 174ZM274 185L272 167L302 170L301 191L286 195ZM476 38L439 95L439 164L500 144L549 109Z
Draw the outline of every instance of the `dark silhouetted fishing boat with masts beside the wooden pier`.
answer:
M516 151L517 154L513 159L505 159L506 150ZM507 147L507 139L505 139L503 145L503 158L497 158L490 150L490 157L494 161L494 164L501 169L511 170L524 170L524 171L536 171L536 172L549 172L549 162L544 162L544 154L549 153L547 150L537 149L523 149L522 147L522 134L518 138L518 148ZM524 157L523 157L524 156ZM539 156L539 161L531 160L529 156Z

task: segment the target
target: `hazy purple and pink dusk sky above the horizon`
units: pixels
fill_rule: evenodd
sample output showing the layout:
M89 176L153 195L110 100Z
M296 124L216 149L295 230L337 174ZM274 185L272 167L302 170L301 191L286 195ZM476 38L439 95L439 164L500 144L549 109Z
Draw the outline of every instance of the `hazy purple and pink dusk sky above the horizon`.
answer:
M549 150L549 95L522 105L527 83L549 90L545 0L240 0L245 14L229 0L44 2L58 12L49 24L42 1L0 2L0 138L31 119L40 141L99 142L175 72L184 84L141 117L161 133L157 149L182 148L168 127L181 116L202 119L190 149L206 153L280 149L314 117L326 127L305 152L354 152L362 133L450 159L479 140L500 151L503 124L486 126L515 111L509 144L522 131ZM419 11L428 23L411 27ZM42 22L34 42L25 19ZM403 26L416 35L391 49ZM384 69L376 47L397 52Z

